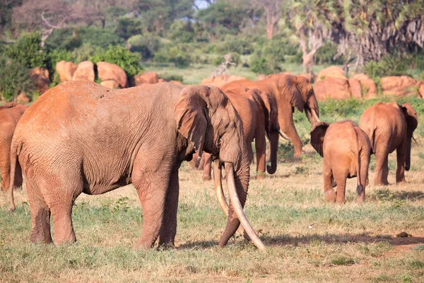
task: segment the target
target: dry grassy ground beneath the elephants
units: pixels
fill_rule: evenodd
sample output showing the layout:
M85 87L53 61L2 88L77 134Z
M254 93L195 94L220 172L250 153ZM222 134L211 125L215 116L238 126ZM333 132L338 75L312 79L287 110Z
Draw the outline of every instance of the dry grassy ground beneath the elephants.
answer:
M390 100L391 98L384 98ZM383 100L383 99L378 99ZM320 103L322 120L360 114L377 100ZM132 185L100 196L81 195L73 209L78 242L69 246L30 243L25 190L16 191L16 212L0 194L1 282L424 282L424 103L403 98L417 110L408 183L395 185L396 154L389 157L389 182L372 185L366 203L355 203L356 179L348 180L347 202L326 203L322 158L309 142L310 125L295 113L306 144L302 161L280 146L278 171L252 180L245 212L267 249L241 236L217 242L225 226L213 183L184 163L180 169L177 248L134 250L143 215ZM254 166L252 166L254 168ZM413 237L396 238L402 231Z

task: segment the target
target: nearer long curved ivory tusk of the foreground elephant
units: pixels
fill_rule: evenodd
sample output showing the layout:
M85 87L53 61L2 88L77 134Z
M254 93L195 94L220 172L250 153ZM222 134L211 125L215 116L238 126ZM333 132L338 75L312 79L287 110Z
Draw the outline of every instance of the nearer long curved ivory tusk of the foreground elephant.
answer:
M235 214L237 214L237 218L240 220L240 223L242 224L243 229L247 232L247 235L249 235L252 239L254 246L257 246L259 250L265 250L264 243L262 243L257 233L253 230L252 225L250 225L249 220L247 220L246 214L243 211L242 204L240 203L240 199L235 188L234 168L232 168L232 164L225 163L225 174L227 174L228 194L230 195L232 208L234 209Z

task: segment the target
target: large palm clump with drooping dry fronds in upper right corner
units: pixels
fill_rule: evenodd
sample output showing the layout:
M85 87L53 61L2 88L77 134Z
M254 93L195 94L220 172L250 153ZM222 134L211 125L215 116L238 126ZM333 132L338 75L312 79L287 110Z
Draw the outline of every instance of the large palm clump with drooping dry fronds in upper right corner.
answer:
M346 0L343 21L334 40L338 54L347 62L355 58L355 69L365 62L379 61L389 52L422 50L424 46L424 1Z

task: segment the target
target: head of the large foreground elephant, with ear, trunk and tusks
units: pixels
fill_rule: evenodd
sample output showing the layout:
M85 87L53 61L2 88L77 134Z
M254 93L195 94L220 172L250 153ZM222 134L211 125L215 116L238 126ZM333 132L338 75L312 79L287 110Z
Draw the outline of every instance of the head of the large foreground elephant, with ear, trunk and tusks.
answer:
M179 133L192 141L199 155L206 151L225 166L230 208L219 246L225 246L241 222L254 244L263 249L242 209L249 187L249 158L242 122L230 100L216 87L188 86L174 112Z

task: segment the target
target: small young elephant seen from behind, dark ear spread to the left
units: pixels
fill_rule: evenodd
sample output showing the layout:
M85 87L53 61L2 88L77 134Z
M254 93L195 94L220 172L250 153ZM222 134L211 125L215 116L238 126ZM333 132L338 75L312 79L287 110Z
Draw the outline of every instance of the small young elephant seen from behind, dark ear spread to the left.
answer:
M365 183L370 165L370 139L352 120L317 122L311 144L324 157L324 194L327 202L345 202L346 178L358 176L358 202L365 201ZM337 192L333 190L336 180Z

